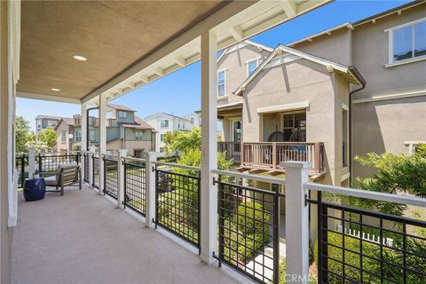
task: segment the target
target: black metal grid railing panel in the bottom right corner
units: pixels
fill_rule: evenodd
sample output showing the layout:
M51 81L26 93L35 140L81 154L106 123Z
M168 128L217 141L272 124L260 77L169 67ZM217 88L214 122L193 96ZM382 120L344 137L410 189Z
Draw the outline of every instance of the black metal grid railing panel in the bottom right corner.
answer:
M319 283L423 283L426 222L310 200L318 207Z

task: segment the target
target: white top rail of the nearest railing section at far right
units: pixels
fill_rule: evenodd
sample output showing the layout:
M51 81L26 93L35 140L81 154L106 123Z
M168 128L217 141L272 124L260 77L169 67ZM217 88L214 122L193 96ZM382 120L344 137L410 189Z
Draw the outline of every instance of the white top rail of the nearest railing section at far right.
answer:
M426 199L416 196L409 195L397 195L392 193L377 193L362 189L342 187L342 186L333 186L333 185L320 185L315 183L304 183L304 189L309 190L313 189L319 192L326 193L338 193L343 195L348 195L352 197L367 198L375 201L386 201L393 202L398 204L419 206L426 208Z

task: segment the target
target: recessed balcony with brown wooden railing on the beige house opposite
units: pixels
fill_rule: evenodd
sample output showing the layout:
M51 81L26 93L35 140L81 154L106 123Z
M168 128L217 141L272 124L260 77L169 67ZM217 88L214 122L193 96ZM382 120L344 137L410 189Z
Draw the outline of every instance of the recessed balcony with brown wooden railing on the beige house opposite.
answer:
M229 125L229 128L224 126L224 132L227 132L224 136L231 141L218 142L218 151L239 164L239 170L267 171L278 175L285 172L284 162L296 161L312 162L312 177L318 178L325 174L324 143L307 142L304 111L262 115L259 125L263 125L263 134L260 142L244 136L241 120L231 119ZM245 132L249 132L249 136L253 132L260 132L259 129Z

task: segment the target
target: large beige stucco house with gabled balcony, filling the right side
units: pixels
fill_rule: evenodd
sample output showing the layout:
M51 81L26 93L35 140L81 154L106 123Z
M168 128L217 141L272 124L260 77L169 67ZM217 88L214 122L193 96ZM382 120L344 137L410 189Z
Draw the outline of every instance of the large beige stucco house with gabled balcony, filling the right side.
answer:
M298 160L313 163L310 176L319 183L369 176L356 162L349 172L350 127L352 156L408 154L426 140L426 4L273 51L234 45L217 62L217 116L225 138L219 150L239 170L284 177L281 162Z

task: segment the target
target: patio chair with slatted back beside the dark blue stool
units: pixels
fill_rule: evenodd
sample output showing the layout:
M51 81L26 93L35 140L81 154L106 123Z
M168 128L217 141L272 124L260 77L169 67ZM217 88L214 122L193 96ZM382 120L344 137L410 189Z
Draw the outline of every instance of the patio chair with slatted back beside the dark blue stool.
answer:
M55 176L45 177L46 186L55 186L56 190L46 190L47 193L60 193L64 195L64 187L75 185L78 183L79 189L82 190L82 170L76 163L66 163L58 166ZM59 190L60 186L60 190Z

